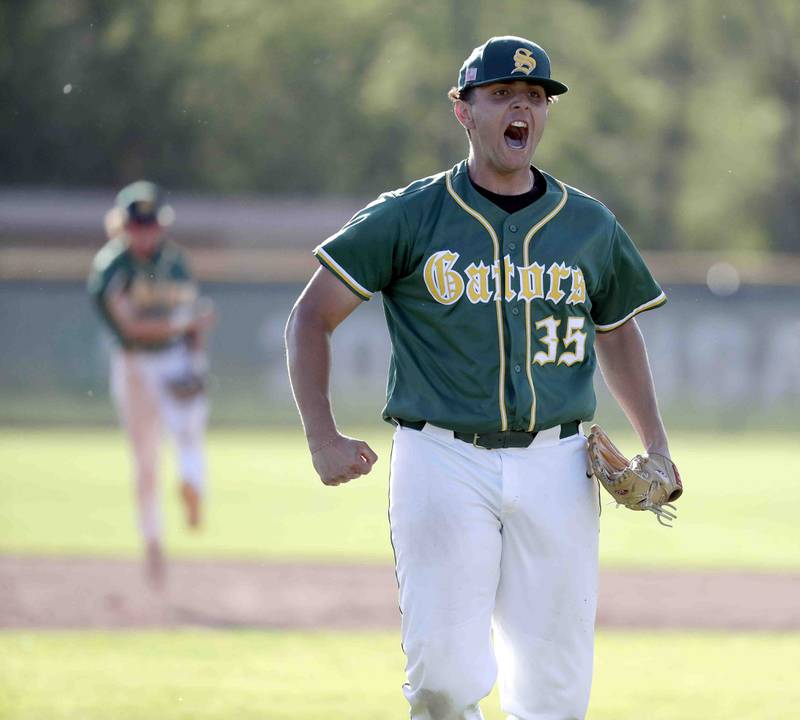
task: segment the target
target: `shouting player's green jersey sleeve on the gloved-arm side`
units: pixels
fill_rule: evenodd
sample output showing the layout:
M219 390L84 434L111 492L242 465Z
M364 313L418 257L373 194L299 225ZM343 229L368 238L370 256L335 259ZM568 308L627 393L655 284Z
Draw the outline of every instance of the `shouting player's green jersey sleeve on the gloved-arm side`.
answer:
M650 274L628 233L615 222L608 262L592 293L597 332L609 332L645 310L663 305L667 296Z

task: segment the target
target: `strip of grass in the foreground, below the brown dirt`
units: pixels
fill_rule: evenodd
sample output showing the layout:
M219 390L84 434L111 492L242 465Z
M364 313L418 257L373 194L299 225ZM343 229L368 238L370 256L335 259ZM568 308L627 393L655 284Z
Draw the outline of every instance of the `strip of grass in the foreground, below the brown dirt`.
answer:
M393 633L6 632L0 657L3 720L408 716ZM600 633L588 717L790 720L798 666L798 635Z

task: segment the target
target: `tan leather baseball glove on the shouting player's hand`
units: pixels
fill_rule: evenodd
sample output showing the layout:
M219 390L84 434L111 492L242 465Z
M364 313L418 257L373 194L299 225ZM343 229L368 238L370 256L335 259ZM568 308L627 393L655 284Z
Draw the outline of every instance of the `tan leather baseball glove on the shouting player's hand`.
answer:
M683 493L675 463L658 453L637 455L629 462L599 425L592 425L588 441L592 473L617 504L649 510L669 527L677 517L670 503Z

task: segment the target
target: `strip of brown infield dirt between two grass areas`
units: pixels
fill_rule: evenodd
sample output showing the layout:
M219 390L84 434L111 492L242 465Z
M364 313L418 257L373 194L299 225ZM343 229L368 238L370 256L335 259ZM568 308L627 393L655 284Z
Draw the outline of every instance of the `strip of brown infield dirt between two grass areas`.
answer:
M166 587L140 563L0 555L0 628L399 627L385 565L178 560ZM800 574L605 570L598 625L799 630Z

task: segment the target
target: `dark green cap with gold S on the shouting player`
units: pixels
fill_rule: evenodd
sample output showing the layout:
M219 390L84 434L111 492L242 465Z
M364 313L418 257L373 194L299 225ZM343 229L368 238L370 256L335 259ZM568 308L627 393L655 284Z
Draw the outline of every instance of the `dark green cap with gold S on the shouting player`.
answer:
M544 49L514 35L489 38L476 47L461 66L458 89L504 80L527 80L541 85L548 95L562 95L569 90L550 77L550 58Z

